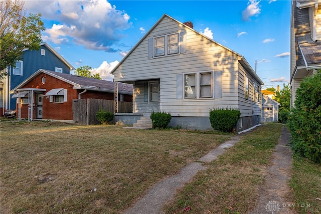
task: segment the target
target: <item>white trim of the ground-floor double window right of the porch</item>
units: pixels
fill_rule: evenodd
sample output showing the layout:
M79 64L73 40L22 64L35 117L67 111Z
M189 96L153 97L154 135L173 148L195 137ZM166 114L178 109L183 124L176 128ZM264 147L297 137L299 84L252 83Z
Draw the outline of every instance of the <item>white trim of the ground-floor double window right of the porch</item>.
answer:
M185 75L195 74L195 97L185 97ZM211 74L211 96L201 97L201 74ZM193 99L214 99L214 72L213 71L199 71L199 72L188 72L183 73L183 100L193 100Z

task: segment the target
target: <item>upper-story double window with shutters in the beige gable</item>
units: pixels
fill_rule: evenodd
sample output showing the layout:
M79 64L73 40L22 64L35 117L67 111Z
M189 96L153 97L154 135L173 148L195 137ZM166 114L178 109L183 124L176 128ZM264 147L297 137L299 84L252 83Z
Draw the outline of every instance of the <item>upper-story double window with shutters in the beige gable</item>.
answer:
M182 53L186 53L185 31L148 39L148 58Z

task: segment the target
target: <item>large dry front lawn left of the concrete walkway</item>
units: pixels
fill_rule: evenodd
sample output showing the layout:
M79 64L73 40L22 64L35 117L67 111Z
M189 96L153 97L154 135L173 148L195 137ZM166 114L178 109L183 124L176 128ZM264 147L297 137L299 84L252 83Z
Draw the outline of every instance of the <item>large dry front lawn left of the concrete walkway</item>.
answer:
M119 213L229 136L1 122L2 213Z

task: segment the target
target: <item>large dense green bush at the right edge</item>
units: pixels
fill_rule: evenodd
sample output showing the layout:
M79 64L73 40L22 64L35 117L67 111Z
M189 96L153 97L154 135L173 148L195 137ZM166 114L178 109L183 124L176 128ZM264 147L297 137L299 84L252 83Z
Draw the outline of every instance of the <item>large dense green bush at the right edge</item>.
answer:
M287 123L294 153L321 162L321 74L306 77L296 90Z

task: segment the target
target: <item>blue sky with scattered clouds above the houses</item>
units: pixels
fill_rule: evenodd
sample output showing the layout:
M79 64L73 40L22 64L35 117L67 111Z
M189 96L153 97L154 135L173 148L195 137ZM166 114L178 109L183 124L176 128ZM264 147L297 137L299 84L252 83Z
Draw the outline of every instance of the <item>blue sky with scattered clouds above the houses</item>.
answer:
M106 1L25 0L29 13L42 14L43 40L75 68L112 80L111 69L164 15L241 54L264 82L289 81L291 1Z

